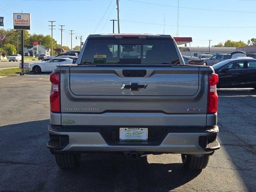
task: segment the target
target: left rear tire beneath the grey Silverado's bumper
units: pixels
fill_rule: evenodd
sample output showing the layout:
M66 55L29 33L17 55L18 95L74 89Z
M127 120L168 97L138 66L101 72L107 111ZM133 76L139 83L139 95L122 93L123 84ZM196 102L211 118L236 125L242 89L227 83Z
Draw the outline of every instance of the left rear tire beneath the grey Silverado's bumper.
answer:
M58 167L67 169L67 168L76 168L79 167L82 160L82 154L55 154L55 160Z

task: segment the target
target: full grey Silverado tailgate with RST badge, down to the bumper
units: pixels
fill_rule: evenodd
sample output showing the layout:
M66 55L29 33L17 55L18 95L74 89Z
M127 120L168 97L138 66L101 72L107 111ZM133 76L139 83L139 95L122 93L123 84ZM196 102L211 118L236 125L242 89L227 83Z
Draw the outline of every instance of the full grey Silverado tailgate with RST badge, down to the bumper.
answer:
M146 74L134 77L123 70ZM74 120L75 125L206 125L207 67L61 66L60 72L62 124ZM130 83L147 86L121 89Z

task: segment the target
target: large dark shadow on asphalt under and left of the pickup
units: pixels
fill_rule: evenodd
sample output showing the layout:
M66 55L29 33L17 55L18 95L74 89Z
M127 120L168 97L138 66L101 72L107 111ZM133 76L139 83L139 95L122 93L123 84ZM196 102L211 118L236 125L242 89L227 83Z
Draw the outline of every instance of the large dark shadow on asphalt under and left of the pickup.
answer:
M82 165L62 170L46 148L49 120L0 126L0 191L159 191L193 180L181 163L127 160L118 154L83 154Z

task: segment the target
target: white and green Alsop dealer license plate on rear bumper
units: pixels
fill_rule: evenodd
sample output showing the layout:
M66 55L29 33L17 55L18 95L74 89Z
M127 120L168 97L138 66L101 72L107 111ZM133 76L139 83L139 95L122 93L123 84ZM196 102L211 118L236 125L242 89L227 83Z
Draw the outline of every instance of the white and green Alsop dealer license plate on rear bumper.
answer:
M120 128L120 141L148 141L148 128Z

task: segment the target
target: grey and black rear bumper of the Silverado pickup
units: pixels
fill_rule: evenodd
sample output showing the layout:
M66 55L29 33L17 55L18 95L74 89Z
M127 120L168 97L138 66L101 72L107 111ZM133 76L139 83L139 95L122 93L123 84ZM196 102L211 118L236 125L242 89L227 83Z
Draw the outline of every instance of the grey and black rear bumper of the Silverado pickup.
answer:
M176 128L168 129L159 142L111 142L99 131L93 129L83 132L71 132L48 127L50 140L47 147L52 152L160 152L178 154L208 154L220 148L216 140L218 126L212 128ZM178 131L183 130L183 131ZM185 130L185 132L184 132ZM195 132L193 132L193 130ZM150 130L149 130L150 131ZM59 140L59 143L58 143Z

